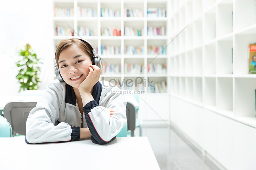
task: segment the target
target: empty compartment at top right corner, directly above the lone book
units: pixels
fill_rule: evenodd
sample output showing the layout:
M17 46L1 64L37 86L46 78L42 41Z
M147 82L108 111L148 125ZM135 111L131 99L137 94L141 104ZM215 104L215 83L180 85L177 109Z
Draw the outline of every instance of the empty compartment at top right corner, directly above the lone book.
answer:
M235 0L234 30L239 31L255 24L255 0Z

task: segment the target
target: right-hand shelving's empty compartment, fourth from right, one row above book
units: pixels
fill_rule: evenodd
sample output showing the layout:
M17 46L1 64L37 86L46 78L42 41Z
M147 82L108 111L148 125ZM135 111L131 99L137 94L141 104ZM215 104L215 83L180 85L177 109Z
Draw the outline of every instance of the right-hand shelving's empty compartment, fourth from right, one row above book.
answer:
M193 22L193 47L202 45L202 17Z

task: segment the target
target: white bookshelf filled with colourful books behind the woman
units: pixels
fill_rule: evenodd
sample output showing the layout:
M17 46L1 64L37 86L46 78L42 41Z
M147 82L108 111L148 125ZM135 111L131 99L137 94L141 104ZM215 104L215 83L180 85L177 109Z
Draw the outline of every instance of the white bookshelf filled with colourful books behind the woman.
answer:
M171 12L167 10L170 8L169 6L168 0L157 2L152 0L53 0L53 7L70 8L74 11L72 17L65 15L53 17L54 33L56 26L74 30L74 36L57 36L54 34L54 49L56 50L61 39L80 37L87 39L102 58L104 69L100 80L107 80L115 84L118 81L122 83L128 79L135 83L135 80L140 79L138 87L135 88L127 87L125 84L118 86L122 90L144 91L144 96L146 96L144 101L147 103L152 100L153 103L157 102L167 106L170 47L166 47L166 45L171 41L169 35L170 20L168 19ZM136 15L132 17L133 12ZM117 34L114 33L113 29L116 29ZM79 33L79 36L76 33ZM160 53L162 50L163 52ZM160 54L158 55L158 53ZM148 68L148 64L150 68ZM115 71L109 66L113 67L112 69ZM134 66L136 69L132 68ZM159 72L159 68L164 68L160 70L164 71ZM158 72L154 70L158 70ZM140 83L141 80L143 80L142 83ZM160 88L163 88L163 84L159 83L165 83L166 89L150 88L149 82L152 80L156 83L155 86ZM167 100L160 101L159 98L162 96ZM141 99L140 104L145 104L144 101ZM154 111L159 113L162 110L155 108ZM148 108L147 112L154 115L154 111ZM140 119L162 120L160 117L149 115L143 115ZM162 118L168 120L168 109L164 109Z

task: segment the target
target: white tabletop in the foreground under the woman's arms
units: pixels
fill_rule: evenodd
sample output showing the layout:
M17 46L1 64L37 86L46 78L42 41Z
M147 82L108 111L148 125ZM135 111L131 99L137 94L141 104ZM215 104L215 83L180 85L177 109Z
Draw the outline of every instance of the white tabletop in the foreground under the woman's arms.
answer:
M0 138L0 169L160 170L147 137L116 137L104 145L90 139L26 144L25 137Z

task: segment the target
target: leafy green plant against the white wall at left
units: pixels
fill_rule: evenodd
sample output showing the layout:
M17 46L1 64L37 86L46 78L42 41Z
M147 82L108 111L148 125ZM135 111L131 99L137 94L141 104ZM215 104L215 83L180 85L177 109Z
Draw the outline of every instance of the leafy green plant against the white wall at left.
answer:
M35 52L31 49L29 44L26 44L24 49L20 50L20 56L23 56L21 60L16 62L16 66L20 68L19 73L16 75L20 83L20 90L36 90L38 89L40 67L41 62L37 58Z

